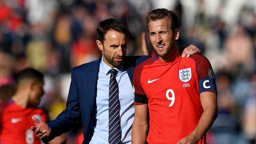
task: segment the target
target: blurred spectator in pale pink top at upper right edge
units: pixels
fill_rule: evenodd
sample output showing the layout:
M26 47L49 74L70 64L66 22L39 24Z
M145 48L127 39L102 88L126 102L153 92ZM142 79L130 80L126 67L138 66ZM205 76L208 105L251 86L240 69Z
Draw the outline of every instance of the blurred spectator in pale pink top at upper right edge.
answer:
M235 75L249 74L254 70L253 43L245 31L245 27L238 25L234 27L232 34L226 40L226 53L229 69Z

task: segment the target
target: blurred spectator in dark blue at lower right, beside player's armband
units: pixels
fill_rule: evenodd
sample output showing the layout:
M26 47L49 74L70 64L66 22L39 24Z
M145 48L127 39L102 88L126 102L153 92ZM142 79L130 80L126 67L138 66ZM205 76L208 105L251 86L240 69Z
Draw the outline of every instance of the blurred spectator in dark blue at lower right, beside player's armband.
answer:
M219 72L216 75L218 89L218 117L210 131L214 134L215 144L246 144L239 126L239 105L231 92L230 73Z

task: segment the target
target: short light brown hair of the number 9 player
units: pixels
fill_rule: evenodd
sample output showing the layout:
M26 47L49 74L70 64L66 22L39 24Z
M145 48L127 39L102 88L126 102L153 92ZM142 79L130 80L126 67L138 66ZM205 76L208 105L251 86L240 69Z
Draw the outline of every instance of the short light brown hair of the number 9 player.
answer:
M147 29L149 22L151 21L157 21L160 19L166 19L169 21L171 25L171 29L175 31L176 29L179 29L179 19L177 15L168 9L161 8L161 9L154 9L150 13L148 13L148 16L146 16L146 22L147 22ZM148 29L149 31L149 29Z

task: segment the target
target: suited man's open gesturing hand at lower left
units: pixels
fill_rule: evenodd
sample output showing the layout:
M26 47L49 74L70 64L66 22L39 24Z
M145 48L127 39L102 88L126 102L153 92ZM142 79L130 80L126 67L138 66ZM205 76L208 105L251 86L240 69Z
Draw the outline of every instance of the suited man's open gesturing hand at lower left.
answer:
M36 126L31 127L31 129L35 131L36 136L40 139L48 138L51 134L49 126L45 122L37 119L35 116L32 116L32 120L37 123Z

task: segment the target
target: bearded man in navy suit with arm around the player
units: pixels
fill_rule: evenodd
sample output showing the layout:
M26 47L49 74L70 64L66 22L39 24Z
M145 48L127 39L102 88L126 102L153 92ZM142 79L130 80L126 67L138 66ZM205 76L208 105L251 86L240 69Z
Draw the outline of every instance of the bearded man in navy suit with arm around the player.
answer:
M82 121L84 144L131 143L131 128L134 119L134 93L132 87L135 67L150 56L125 56L128 30L117 19L106 19L97 27L97 45L102 57L73 68L66 109L55 120L44 123L32 117L38 125L32 126L38 137L47 143L54 137L68 132ZM193 46L190 46L193 47ZM195 51L194 51L195 50ZM188 51L187 51L188 52ZM191 53L190 53L191 52ZM190 49L189 54L198 51ZM118 130L111 140L110 117L110 81L112 73L117 91L117 126ZM116 114L115 113L115 114ZM114 116L116 117L116 116ZM110 134L109 134L110 133Z

